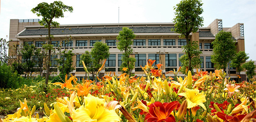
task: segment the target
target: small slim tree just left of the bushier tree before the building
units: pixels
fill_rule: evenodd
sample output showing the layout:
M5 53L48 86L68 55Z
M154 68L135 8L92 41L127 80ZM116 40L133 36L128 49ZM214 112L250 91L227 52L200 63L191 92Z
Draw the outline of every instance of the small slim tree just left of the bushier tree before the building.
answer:
M79 65L83 65L82 61L84 61L84 64L87 67L87 71L91 71L92 59L89 51L85 51L84 54L80 56ZM87 73L85 73L85 77L87 77Z

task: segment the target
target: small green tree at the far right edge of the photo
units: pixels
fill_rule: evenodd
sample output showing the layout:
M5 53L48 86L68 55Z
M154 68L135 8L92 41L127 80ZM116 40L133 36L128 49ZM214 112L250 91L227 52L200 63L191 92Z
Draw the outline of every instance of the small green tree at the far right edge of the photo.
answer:
M249 79L253 78L253 76L256 75L256 73L254 72L256 66L254 65L253 61L249 61L243 64L243 68L247 70L246 74Z

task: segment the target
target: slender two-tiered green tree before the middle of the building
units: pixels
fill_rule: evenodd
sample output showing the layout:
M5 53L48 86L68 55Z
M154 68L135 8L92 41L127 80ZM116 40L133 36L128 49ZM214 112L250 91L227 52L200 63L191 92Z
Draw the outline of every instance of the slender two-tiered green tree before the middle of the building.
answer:
M120 51L124 51L122 56L121 69L123 67L128 68L129 75L131 76L131 70L134 68L134 64L136 62L135 58L130 57L130 54L133 53L131 45L133 45L132 39L134 39L136 35L133 33L133 30L129 29L128 27L123 27L122 29L123 30L119 32L117 37L119 40L117 47Z

